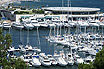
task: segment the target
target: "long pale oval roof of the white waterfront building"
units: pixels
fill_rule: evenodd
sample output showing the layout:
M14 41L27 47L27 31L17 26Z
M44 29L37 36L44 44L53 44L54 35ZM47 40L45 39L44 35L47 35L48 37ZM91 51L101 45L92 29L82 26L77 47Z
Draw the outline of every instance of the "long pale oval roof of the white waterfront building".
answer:
M69 12L100 11L100 8L87 8L87 7L44 7L42 9L50 11L69 11Z

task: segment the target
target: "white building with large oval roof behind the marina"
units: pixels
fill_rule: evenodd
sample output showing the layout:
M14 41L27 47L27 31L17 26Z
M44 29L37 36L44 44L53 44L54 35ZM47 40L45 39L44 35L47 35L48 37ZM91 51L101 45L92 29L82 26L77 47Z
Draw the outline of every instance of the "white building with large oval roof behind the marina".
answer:
M89 17L94 19L100 19L104 16L103 13L100 13L100 8L44 7L42 9L45 11L45 14L57 14L57 16L59 15L60 20L78 20L79 18L82 20L87 20Z

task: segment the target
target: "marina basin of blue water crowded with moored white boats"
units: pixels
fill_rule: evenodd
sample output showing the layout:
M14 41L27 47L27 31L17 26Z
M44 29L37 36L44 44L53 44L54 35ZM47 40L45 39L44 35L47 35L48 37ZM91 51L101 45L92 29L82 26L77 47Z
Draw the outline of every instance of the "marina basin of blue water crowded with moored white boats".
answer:
M93 62L96 53L104 46L104 18L102 13L96 14L100 10L98 8L80 9L71 11L74 12L71 16L69 10L63 16L64 20L62 15L46 15L43 18L22 16L21 22L3 21L3 34L9 33L13 39L8 56L15 59L19 57L30 67L58 65L74 66L76 69L80 63ZM82 15L82 11L87 14ZM75 12L80 13L75 15Z

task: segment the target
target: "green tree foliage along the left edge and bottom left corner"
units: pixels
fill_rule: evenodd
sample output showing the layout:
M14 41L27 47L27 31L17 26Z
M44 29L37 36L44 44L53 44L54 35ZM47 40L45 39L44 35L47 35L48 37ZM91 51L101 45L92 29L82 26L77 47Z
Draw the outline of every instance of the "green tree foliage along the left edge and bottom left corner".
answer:
M10 34L3 36L2 29L0 29L0 66L2 69L29 69L29 66L20 58L13 59L7 56L7 49L12 44L11 38Z

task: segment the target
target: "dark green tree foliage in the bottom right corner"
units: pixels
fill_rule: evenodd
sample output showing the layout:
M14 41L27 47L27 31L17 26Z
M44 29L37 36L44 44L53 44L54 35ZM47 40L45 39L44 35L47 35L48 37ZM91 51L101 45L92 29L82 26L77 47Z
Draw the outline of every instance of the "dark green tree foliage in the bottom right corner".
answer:
M104 48L96 54L93 63L79 64L78 69L104 69Z

